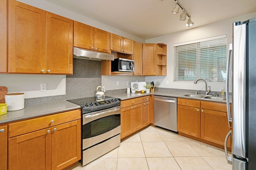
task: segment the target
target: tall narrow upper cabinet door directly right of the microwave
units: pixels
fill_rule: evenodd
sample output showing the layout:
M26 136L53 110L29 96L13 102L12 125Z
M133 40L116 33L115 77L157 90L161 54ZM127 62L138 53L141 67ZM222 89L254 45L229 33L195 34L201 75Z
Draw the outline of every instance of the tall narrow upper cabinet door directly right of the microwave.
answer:
M142 43L134 42L134 75L142 75Z

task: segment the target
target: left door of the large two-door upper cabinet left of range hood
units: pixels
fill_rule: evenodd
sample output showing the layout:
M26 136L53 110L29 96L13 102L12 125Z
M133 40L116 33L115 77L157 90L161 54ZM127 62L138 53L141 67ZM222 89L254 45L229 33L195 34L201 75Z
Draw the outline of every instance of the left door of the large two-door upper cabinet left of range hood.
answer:
M9 0L8 72L42 73L46 66L46 12Z

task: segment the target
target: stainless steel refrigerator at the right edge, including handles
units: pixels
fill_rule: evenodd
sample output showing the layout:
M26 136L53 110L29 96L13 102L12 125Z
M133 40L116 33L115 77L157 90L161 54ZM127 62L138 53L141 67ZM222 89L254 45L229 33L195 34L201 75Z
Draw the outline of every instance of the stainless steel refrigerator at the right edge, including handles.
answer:
M256 18L233 23L232 49L228 52L227 109L232 130L232 156L227 155L233 170L256 169ZM232 97L228 95L232 83ZM231 114L229 97L232 99ZM226 145L225 145L226 150Z

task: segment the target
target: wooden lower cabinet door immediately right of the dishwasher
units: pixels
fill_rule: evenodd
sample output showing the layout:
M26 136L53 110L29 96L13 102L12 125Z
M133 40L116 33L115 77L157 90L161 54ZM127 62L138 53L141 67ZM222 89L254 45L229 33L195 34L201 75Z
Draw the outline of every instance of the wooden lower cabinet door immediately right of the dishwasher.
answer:
M178 132L200 138L200 108L178 105Z

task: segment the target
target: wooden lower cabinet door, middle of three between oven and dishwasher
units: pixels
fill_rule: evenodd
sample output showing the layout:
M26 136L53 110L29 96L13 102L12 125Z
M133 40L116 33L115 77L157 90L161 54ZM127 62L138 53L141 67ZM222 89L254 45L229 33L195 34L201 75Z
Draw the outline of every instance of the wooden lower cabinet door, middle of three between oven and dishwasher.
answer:
M138 131L143 127L142 104L132 106L132 131Z

